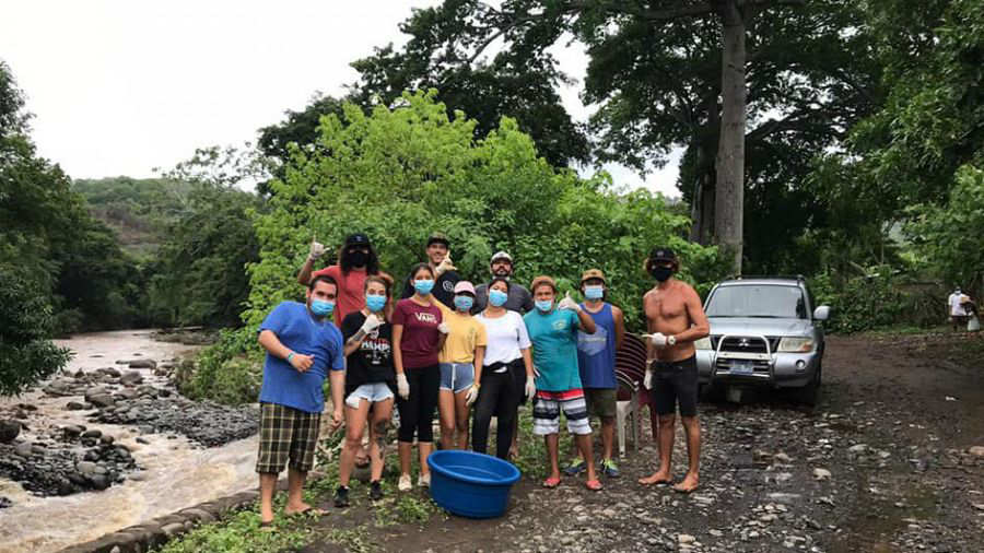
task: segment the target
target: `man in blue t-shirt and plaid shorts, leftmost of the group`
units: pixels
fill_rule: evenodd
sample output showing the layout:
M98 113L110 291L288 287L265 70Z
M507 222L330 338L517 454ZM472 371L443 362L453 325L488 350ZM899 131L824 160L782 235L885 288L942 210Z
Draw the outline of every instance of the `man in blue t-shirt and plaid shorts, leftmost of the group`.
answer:
M260 440L256 471L260 475L260 526L272 528L273 491L288 464L286 515L323 514L302 499L304 480L314 466L321 411L323 387L331 375L331 425L342 423L345 365L341 332L331 322L338 284L317 276L307 286L307 302L283 302L259 328L267 350L260 388Z

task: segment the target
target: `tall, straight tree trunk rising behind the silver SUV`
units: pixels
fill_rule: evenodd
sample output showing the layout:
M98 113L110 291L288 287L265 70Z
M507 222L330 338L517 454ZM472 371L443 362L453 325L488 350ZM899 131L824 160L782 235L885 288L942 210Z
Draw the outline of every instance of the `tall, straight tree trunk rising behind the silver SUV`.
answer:
M745 212L746 21L736 0L716 0L714 5L722 19L722 111L714 235L717 244L733 256L734 269L740 274Z

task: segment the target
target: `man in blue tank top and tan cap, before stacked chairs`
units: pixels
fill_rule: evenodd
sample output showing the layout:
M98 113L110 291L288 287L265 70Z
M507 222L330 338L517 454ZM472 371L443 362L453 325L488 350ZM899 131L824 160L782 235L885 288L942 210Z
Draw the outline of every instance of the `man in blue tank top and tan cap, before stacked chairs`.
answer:
M607 476L618 478L619 467L612 459L618 400L616 391L619 385L614 358L625 337L625 319L621 309L605 301L606 292L605 273L600 269L584 271L581 275L581 293L585 301L581 307L595 320L596 329L593 334L577 331L577 367L588 415L595 415L601 421L601 472ZM564 472L573 475L586 468L584 459L576 457Z

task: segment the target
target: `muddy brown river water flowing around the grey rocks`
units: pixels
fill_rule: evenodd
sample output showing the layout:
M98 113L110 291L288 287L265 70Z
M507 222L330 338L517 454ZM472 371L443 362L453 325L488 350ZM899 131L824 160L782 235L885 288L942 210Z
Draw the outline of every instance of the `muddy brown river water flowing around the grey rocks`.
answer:
M124 330L78 334L57 344L70 348L75 356L69 364L74 373L113 366L116 360L162 360L194 353L195 348L157 342L150 330ZM163 378L144 377L148 384L161 386ZM50 426L82 424L98 428L131 449L143 471L131 473L122 484L102 492L87 492L65 497L36 497L17 483L0 478L0 496L14 503L0 509L0 553L52 552L99 538L115 530L137 525L202 502L256 487L256 436L222 447L203 449L185 438L143 435L149 444L138 444L137 428L110 424L93 424L79 411L68 411L69 401L80 397L46 397L37 391L17 398L0 399L0 408L17 403L37 405L30 417L31 431L21 433L31 440Z

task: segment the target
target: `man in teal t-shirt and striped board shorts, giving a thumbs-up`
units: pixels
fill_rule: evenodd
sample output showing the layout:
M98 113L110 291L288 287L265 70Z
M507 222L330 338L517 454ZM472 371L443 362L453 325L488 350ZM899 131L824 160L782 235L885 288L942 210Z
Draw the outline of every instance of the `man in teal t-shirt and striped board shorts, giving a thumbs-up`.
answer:
M588 490L601 490L601 482L595 474L591 426L577 372L577 331L595 333L595 321L570 295L554 306L557 283L550 276L537 276L529 289L536 308L523 320L532 343L537 370L534 434L543 436L550 463L550 476L543 481L543 486L557 487L560 484L558 436L560 412L563 411L567 431L576 436L577 447L587 464L586 485Z

